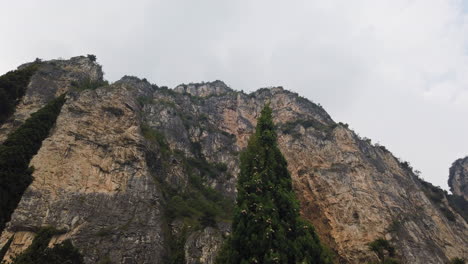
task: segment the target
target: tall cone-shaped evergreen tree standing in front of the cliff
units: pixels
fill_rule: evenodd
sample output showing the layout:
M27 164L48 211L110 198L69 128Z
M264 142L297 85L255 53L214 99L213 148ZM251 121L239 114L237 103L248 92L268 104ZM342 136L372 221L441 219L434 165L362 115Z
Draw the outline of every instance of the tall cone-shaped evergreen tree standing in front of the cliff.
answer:
M299 217L269 105L240 162L232 234L218 263L331 263L314 228Z

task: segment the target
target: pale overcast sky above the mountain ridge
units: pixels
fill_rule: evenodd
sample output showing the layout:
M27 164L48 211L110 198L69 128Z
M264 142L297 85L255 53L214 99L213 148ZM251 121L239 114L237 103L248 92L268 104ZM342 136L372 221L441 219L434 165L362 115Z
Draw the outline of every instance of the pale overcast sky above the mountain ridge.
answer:
M468 0L0 0L0 74L95 54L105 78L283 86L447 189L468 155Z

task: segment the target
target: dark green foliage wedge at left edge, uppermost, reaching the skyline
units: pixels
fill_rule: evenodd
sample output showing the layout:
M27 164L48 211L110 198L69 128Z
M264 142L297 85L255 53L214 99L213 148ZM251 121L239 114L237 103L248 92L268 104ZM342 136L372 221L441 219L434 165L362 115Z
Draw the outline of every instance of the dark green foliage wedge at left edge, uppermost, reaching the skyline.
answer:
M40 62L35 62L0 76L0 125L15 111L15 106L25 94L29 80L39 65Z

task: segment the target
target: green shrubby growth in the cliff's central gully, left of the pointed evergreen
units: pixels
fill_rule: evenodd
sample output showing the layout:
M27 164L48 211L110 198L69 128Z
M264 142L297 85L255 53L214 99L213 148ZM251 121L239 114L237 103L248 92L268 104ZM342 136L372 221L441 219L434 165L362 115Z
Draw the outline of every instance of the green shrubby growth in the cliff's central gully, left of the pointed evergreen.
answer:
M165 203L164 221L167 227L164 232L168 237L168 254L164 263L185 263L184 245L190 233L207 226L216 226L217 221L231 219L234 202L207 186L208 179L226 174L227 166L223 163L208 162L201 155L201 145L198 143L192 144L194 157L186 157L182 151L169 148L163 133L145 125L142 126L142 133L147 140L161 149L160 161L153 162L161 163L160 166L156 166L159 171L155 172L154 178ZM151 154L150 156L155 157ZM186 184L172 185L160 177L167 174L171 166L182 166L184 174L188 176ZM176 222L177 224L174 224ZM178 226L178 231L174 230L173 225Z

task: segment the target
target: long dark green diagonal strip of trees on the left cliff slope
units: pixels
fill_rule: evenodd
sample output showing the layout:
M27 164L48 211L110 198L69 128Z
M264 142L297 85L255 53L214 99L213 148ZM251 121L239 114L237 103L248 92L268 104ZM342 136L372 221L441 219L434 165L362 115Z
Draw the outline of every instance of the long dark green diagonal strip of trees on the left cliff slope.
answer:
M0 145L0 232L32 181L29 161L49 135L64 102L64 95L49 102Z

